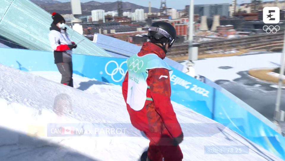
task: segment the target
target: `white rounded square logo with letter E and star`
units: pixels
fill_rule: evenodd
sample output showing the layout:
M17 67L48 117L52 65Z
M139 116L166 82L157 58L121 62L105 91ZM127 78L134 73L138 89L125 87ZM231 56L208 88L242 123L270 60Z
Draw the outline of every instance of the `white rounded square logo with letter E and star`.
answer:
M280 9L278 7L264 7L263 8L263 22L264 23L279 23Z

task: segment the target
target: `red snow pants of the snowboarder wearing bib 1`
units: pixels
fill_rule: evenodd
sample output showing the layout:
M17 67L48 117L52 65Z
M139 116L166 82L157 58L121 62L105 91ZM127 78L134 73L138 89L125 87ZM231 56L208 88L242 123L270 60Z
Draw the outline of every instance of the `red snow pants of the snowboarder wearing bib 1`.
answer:
M183 154L179 146L172 145L172 137L168 130L161 133L145 133L150 140L148 158L151 161L182 161Z

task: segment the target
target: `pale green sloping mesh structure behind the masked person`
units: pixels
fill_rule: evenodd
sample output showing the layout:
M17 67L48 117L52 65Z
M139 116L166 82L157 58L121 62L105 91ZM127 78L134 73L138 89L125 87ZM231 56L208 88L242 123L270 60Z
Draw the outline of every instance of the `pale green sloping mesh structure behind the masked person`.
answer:
M53 51L48 34L51 15L29 0L0 0L0 36L31 50ZM68 27L68 34L78 45L73 52L83 55L111 57L85 36Z

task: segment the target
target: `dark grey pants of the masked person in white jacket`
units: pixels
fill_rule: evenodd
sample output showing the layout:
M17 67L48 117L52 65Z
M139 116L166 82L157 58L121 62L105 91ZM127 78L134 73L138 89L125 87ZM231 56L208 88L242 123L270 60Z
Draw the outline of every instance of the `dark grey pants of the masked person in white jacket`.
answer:
M68 85L73 87L73 79L72 79L72 62L66 63L56 63L58 71L61 74L61 84Z

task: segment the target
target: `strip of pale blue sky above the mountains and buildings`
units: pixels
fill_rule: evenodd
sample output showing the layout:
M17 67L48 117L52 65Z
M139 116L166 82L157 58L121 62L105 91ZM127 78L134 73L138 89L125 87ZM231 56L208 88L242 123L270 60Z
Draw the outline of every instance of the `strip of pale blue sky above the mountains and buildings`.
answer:
M57 0L61 2L67 2L70 0ZM81 0L81 2L88 2L91 0ZM117 0L95 0L98 2L115 2ZM148 2L151 1L151 7L160 7L160 0L122 0L123 2L131 2L140 6L148 7ZM237 0L238 4L249 3L251 0ZM264 0L264 1L275 1L275 0ZM283 1L283 0L279 0ZM232 4L232 0L194 0L194 4L213 4L213 3L229 3ZM167 0L167 7L175 9L184 9L185 5L190 4L190 0Z

